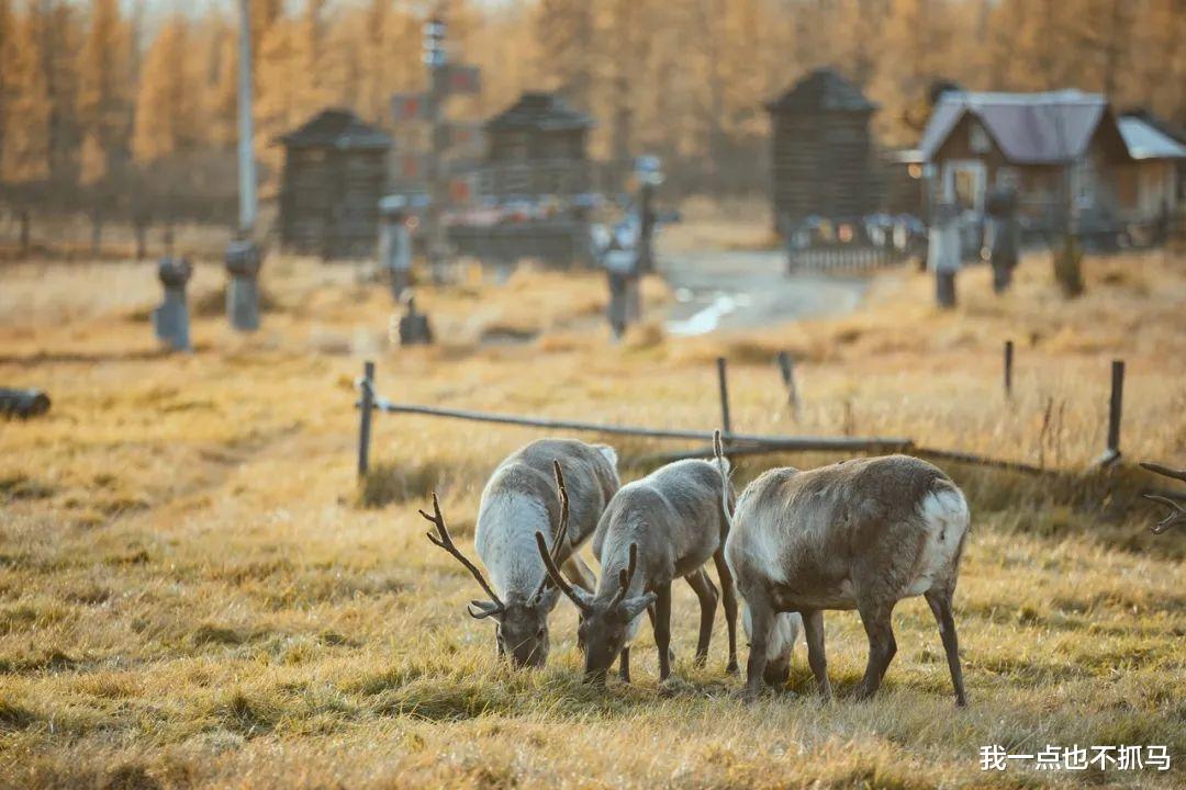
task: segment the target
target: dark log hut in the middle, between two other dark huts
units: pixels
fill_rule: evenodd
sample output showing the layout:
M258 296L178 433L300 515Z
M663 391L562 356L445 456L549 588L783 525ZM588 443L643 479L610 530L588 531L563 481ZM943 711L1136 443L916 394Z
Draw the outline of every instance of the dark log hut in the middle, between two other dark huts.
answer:
M478 192L499 200L588 192L593 120L555 94L525 92L484 127L486 159Z

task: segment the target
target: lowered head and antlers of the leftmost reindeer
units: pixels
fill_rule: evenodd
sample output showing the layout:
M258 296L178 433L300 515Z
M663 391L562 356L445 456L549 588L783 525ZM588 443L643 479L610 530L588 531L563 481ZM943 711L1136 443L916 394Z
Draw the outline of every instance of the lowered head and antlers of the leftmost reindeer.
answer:
M550 557L559 560L560 550L568 534L568 493L559 462L553 462L553 470L556 474L556 487L560 492L560 526L556 529ZM420 515L435 527L435 534L429 532L428 540L461 563L489 596L487 600L471 600L466 611L474 619L490 618L495 622L495 638L498 642L499 655L509 655L516 667L542 667L548 661L548 614L555 608L559 597L548 576L544 576L543 582L533 595L524 597L510 593L506 596L506 600L503 600L482 576L482 571L454 545L448 527L445 526L445 519L441 516L435 492L433 493L433 515L428 515L423 510L420 512Z

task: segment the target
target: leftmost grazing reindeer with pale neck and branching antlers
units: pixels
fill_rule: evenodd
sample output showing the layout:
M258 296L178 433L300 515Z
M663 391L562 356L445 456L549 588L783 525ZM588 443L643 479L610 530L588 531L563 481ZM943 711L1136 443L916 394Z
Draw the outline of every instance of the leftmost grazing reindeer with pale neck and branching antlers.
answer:
M541 439L508 456L490 476L478 506L474 547L493 585L453 544L436 494L435 526L428 539L464 565L489 600L471 602L471 617L495 621L498 655L518 667L542 667L548 660L548 614L559 593L536 554L534 535L551 544L549 560L592 591L597 579L576 554L618 490L618 456L604 444Z

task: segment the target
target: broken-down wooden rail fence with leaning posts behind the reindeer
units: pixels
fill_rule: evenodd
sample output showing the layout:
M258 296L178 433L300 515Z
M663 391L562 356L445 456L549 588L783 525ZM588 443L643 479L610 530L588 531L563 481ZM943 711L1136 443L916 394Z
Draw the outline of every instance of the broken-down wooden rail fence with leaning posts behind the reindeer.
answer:
M778 370L788 390L792 410L798 410L798 390L795 384L793 364L789 355L779 354ZM721 402L721 433L729 456L764 455L771 452L910 452L920 457L938 461L970 463L995 469L1020 471L1025 474L1045 474L1048 470L1018 461L989 458L975 452L962 450L937 449L916 442L913 438L888 436L771 436L761 433L738 433L733 431L729 411L728 368L725 358L716 360L716 374ZM1107 467L1120 460L1120 425L1122 394L1124 387L1124 362L1114 360L1111 367L1111 398L1108 410L1108 445L1097 461L1097 465ZM1013 342L1005 346L1005 397L1012 394L1013 385ZM680 458L712 457L712 430L684 430L667 428L645 428L632 425L614 425L608 423L591 423L575 419L559 419L521 415L504 415L466 409L447 409L422 404L395 403L381 397L375 388L375 362L363 366L363 375L358 379L359 399L355 404L359 409L358 425L358 476L366 474L370 467L371 418L376 411L388 413L420 415L423 417L463 419L479 423L497 423L503 425L521 425L555 431L591 432L608 436L638 436L653 439L680 439L704 442L704 447L690 451L652 456L656 462Z

